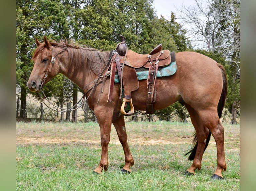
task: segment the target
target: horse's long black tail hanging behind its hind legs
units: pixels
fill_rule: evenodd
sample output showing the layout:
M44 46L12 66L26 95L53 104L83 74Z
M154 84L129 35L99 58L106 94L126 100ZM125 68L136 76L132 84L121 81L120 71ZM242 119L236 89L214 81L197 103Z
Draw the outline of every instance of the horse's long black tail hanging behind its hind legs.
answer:
M221 73L222 73L222 82L223 82L223 87L222 87L222 93L221 93L221 97L220 97L220 100L219 100L219 103L218 103L218 116L219 118L221 118L221 114L222 114L222 110L224 108L224 104L225 104L225 100L226 100L226 97L227 97L227 88L228 88L228 84L227 84L227 75L226 75L226 72L225 72L225 69L222 65L218 64L218 67L220 68L221 70ZM209 132L209 135L207 137L207 140L206 140L206 144L205 144L205 149L207 148L208 146L208 143L210 141L210 138L211 138L211 132ZM197 146L198 146L198 139L197 139L197 134L195 133L194 135L194 139L193 139L193 143L194 143L194 148L192 148L191 150L189 150L185 155L189 154L189 157L188 157L188 160L194 160L195 158L195 155L196 155L196 151L197 151ZM205 152L205 149L204 149L204 152Z

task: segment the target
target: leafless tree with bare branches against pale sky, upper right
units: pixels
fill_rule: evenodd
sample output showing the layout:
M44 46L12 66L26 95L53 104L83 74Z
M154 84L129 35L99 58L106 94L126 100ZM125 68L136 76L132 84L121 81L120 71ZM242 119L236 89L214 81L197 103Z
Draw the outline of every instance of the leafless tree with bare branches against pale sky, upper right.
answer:
M191 44L221 53L240 74L240 1L194 1L194 6L176 8Z

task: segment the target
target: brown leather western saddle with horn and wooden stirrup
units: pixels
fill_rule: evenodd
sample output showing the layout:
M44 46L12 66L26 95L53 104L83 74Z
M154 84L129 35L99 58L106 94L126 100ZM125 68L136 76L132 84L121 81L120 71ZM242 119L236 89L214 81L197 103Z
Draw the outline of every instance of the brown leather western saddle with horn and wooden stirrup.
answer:
M120 35L121 36L121 35ZM120 99L123 97L121 114L132 115L134 107L132 104L131 92L139 89L139 81L136 71L148 70L146 101L146 113L154 112L154 102L156 99L156 73L158 67L165 67L171 63L169 50L162 51L162 44L156 46L149 54L142 55L128 50L124 37L111 54L108 71L103 80L110 76L108 101L112 101L115 74L118 74L120 82Z

